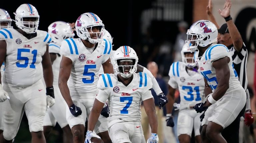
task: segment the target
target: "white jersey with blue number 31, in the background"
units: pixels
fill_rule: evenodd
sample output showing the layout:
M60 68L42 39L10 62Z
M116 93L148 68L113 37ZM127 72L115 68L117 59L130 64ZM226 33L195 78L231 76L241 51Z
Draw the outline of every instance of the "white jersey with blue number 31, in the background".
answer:
M204 77L199 72L190 76L184 62L174 62L170 67L169 76L168 84L174 89L179 88L181 105L195 105L202 101Z

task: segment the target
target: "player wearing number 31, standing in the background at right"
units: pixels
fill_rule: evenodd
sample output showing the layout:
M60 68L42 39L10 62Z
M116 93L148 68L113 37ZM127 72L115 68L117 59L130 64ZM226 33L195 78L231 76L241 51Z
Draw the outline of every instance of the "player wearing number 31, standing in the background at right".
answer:
M193 105L202 102L204 95L203 76L198 72L198 67L194 61L194 52L185 44L181 50L182 62L174 62L169 71L170 80L167 103L167 126L174 126L172 119L172 107L174 103L174 93L177 88L180 92L180 111L178 115L178 138L180 143L189 143L194 128L197 143L201 142L200 137L200 113L192 109Z

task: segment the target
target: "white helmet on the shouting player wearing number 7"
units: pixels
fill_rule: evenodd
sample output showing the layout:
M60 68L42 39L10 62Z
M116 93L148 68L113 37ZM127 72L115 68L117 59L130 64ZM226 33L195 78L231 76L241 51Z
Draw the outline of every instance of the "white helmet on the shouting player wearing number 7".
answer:
M113 68L115 72L120 74L123 78L129 78L132 76L133 73L137 71L137 63L138 63L138 56L133 48L130 46L121 46L119 47L113 56L110 58L111 63L113 64ZM130 70L128 73L124 73L124 67L127 65L119 65L120 61L129 61L132 60L133 64L130 66Z

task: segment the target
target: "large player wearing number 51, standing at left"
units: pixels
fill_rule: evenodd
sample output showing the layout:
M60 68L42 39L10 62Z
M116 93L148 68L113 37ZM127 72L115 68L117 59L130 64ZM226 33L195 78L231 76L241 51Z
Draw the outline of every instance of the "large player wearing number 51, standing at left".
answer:
M5 96L3 100L6 100L10 96L10 100L2 104L4 131L0 142L12 142L25 111L32 143L43 143L46 106L51 107L55 103L48 52L51 37L47 32L37 30L39 14L33 5L20 5L14 15L18 29L0 30L0 64L5 60L0 97Z

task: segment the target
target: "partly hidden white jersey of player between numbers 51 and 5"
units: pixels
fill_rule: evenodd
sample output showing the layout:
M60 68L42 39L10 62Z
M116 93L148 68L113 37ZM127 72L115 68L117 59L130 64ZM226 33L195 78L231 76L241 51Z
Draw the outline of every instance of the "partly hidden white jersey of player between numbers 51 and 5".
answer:
M60 45L57 43L51 42L49 44L49 53L56 53L56 59L52 64L52 72L53 72L53 86L58 87L58 79L59 79L59 71L60 71L60 61L62 55L60 54Z

